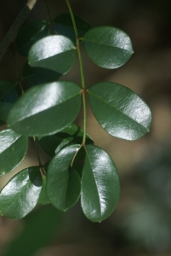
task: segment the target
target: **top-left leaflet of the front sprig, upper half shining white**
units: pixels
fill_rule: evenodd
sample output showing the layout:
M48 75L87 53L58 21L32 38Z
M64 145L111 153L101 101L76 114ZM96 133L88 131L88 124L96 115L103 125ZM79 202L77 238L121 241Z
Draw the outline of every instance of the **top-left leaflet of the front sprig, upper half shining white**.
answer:
M75 46L64 36L48 36L33 44L28 63L34 71L48 78L67 73L75 61Z

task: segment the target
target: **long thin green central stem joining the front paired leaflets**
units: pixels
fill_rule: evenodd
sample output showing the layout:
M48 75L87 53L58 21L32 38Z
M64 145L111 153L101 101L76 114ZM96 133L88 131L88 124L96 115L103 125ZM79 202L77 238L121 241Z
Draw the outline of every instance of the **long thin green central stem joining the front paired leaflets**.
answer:
M76 21L74 19L74 15L71 9L71 5L69 3L69 0L66 0L66 4L68 6L68 9L70 11L70 15L71 15L71 20L72 20L72 24L74 27L74 32L76 35L76 42L77 42L77 54L78 54L78 60L79 60L79 65L80 65L80 74L81 74L81 80L82 80L82 89L83 89L83 145L86 142L86 128L87 128L87 108L86 108L86 96L85 93L87 92L87 90L85 89L85 80L84 80L84 74L83 74L83 61L82 61L82 55L81 55L81 51L80 51L80 42L79 42L79 38L78 38L78 32L77 32L77 26L76 26Z

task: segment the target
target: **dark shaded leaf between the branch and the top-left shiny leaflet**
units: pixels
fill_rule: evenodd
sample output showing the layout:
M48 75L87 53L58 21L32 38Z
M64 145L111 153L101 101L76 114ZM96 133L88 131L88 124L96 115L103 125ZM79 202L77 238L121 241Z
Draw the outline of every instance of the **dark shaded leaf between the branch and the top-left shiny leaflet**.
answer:
M49 34L48 21L33 20L22 26L17 34L16 43L20 55L27 56L31 46Z

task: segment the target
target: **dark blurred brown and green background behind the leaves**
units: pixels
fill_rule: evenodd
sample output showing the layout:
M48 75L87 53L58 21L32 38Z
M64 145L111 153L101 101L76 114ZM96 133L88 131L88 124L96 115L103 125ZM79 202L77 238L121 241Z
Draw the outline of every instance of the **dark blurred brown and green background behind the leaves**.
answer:
M0 41L25 1L0 2ZM127 32L134 55L116 70L96 67L83 52L87 86L103 80L128 86L150 106L151 132L135 142L108 135L88 108L88 134L111 155L121 178L117 209L100 224L84 216L80 202L67 212L54 207L37 208L26 218L0 218L0 252L3 256L66 255L171 255L171 1L71 0L75 14L92 26L117 26ZM53 19L67 12L66 1L48 0ZM25 24L48 20L45 4L37 0ZM14 54L20 72L26 59ZM0 79L14 80L14 66L7 52L0 61ZM62 79L80 84L78 63ZM82 113L76 120L83 126ZM1 127L2 128L2 127ZM37 163L30 147L17 171ZM43 161L48 160L42 153ZM0 185L11 177L1 177Z

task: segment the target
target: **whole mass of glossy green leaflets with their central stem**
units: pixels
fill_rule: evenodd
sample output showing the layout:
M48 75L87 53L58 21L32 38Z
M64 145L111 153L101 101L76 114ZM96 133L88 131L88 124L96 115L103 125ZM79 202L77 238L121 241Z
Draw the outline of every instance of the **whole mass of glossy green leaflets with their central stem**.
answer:
M22 170L3 187L0 212L7 218L23 218L37 203L66 211L81 198L85 216L100 222L117 207L117 167L86 133L86 95L95 118L111 136L133 141L150 131L151 110L134 91L113 82L87 88L84 82L80 44L96 65L117 68L134 52L130 38L116 27L92 28L73 15L68 0L66 4L69 14L51 22L31 21L20 29L16 43L20 55L27 57L22 76L17 72L17 81L0 81L0 125L7 122L10 128L0 132L0 175L24 159L28 137L51 157L43 166L37 149L39 166ZM71 70L76 54L81 86L58 81ZM82 102L83 129L73 123Z

